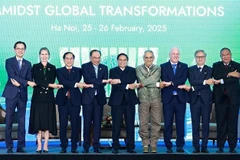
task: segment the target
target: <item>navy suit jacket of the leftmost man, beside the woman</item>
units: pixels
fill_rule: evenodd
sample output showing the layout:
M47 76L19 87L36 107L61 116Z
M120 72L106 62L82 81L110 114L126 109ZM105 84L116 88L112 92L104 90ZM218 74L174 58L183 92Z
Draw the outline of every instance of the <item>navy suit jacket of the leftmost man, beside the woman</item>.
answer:
M19 71L18 62L16 57L12 57L6 60L5 67L8 75L8 80L3 91L3 97L7 99L14 99L18 93L22 101L28 100L27 95L27 81L32 81L31 63L25 59L22 60L22 68ZM12 84L11 78L20 83L20 87L16 87Z

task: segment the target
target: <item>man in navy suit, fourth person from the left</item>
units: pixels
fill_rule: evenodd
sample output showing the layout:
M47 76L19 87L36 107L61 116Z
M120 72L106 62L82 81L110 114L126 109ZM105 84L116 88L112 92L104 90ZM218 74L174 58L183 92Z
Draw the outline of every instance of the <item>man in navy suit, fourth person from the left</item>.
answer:
M101 52L92 50L90 62L82 65L84 82L92 85L82 91L83 104L83 153L88 153L90 148L90 130L93 123L93 151L101 153L99 137L103 116L103 106L106 104L105 85L109 83L108 68L100 63Z

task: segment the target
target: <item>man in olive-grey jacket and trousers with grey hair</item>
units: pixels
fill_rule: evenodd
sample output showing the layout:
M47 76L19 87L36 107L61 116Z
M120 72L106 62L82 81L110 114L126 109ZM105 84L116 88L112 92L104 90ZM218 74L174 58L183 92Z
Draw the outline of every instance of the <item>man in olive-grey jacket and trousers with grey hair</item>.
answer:
M146 50L143 55L144 64L136 68L138 82L138 97L140 105L139 112L139 135L142 139L143 153L157 152L157 142L160 137L161 129L161 93L160 82L161 69L154 65L155 57L153 51ZM151 132L149 136L149 122L151 123Z

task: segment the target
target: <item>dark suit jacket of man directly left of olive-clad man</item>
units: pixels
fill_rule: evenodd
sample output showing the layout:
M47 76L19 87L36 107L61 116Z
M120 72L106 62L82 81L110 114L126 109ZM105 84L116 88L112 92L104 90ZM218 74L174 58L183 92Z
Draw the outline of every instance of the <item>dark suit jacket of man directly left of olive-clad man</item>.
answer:
M134 68L127 66L123 71L119 67L112 68L109 78L120 79L121 83L112 85L108 105L120 106L123 104L123 101L126 105L135 105L138 103L135 90L126 89L127 84L134 83L137 80Z

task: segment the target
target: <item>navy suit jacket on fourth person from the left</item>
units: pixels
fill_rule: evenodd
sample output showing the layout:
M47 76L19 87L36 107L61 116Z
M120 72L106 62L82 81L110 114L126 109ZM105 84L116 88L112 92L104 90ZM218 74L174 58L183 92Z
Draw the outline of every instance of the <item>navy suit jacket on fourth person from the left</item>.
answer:
M84 88L82 91L82 103L85 105L89 105L93 102L95 92L97 92L96 98L98 100L99 105L105 105L106 95L105 95L105 85L106 83L102 83L103 79L108 79L108 68L103 64L99 64L98 66L98 76L96 78L96 73L93 67L92 62L88 62L82 65L82 73L84 82L86 84L93 84L93 88Z

